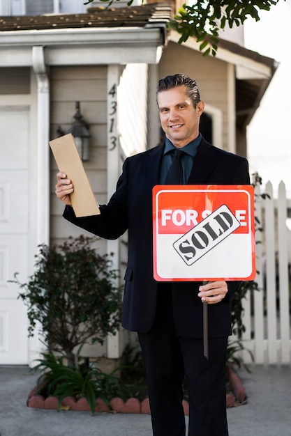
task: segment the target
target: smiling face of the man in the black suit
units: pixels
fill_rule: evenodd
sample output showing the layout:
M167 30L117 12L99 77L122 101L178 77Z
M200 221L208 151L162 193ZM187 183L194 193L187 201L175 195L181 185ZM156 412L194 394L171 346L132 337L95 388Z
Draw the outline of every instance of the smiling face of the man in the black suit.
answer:
M184 147L197 138L204 102L194 108L184 86L158 93L158 110L162 129L175 147Z

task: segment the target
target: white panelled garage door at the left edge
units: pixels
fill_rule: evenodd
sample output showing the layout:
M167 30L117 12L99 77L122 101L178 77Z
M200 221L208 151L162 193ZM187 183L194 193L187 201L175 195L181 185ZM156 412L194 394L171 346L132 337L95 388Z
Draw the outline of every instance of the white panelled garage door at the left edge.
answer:
M0 106L0 364L28 364L27 309L17 295L28 277L29 111Z

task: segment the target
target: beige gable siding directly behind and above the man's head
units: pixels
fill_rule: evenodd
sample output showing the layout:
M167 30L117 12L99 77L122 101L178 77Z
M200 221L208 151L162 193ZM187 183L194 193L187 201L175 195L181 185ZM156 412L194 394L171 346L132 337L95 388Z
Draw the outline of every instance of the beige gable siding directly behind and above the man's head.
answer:
M159 78L176 73L195 79L201 99L222 111L223 148L227 150L227 63L211 56L203 57L193 49L170 42L159 64Z

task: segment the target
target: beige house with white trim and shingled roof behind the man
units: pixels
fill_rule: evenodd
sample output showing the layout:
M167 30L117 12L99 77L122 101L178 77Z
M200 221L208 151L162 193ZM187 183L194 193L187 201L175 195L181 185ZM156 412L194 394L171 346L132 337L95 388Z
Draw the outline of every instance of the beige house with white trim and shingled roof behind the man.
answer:
M177 33L167 30L173 11L160 2L0 17L0 364L31 364L41 349L37 336L27 338L26 308L8 280L19 272L27 281L38 244L80 234L61 217L49 147L58 128L66 132L73 123L75 102L89 124L84 168L101 204L114 192L124 158L161 140L155 94L165 75L196 79L206 102L204 134L247 155L246 126L276 62L227 40L215 58L205 58L193 38L179 45ZM98 240L96 248L114 253L122 278L126 235ZM126 341L121 332L84 353L119 359Z

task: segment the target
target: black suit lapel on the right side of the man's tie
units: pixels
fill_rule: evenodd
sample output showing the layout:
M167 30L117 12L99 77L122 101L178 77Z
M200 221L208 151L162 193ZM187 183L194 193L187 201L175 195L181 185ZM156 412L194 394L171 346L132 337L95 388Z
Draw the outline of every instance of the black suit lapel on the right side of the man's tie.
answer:
M188 178L188 185L203 185L216 165L216 157L211 145L202 138L193 168Z

